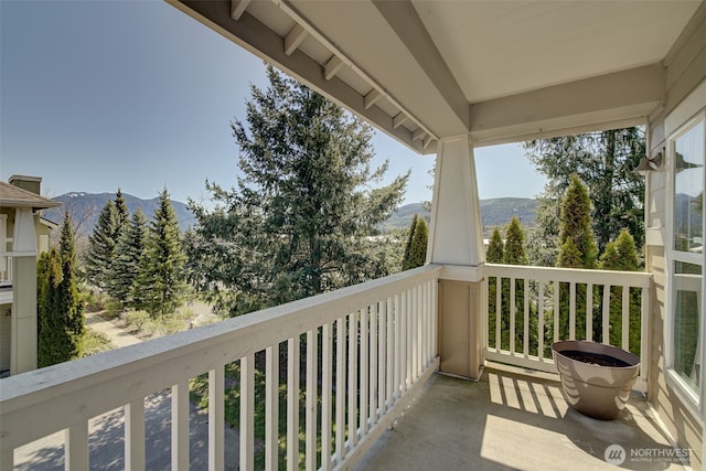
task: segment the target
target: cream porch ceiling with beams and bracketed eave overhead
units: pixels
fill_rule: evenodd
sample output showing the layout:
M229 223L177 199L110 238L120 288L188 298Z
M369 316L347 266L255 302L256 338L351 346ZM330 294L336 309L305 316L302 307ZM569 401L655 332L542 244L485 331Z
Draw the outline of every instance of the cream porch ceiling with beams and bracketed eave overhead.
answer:
M644 124L706 30L698 0L167 1L422 153Z

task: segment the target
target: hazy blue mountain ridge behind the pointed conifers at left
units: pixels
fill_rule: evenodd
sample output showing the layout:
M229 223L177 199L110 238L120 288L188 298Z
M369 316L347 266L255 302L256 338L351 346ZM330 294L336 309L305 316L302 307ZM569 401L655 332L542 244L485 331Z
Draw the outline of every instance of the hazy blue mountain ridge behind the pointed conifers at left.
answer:
M151 200L142 200L131 194L122 193L122 197L130 214L139 207L148 220L154 215L154 210L159 207L159 197L157 196ZM68 211L74 220L77 217L85 218L82 228L85 233L90 234L98 222L100 210L103 210L108 200L115 200L115 193L72 192L52 200L61 202L62 205L45 211L43 213L45 218L58 224L64 220L64 211ZM195 224L194 215L184 203L172 200L172 206L182 232L190 225Z

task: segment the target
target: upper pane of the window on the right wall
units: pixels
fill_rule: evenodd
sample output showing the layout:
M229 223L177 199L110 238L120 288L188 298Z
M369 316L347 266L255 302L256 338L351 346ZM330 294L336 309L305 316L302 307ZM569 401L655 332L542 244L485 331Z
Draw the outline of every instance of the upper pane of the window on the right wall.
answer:
M704 124L674 140L674 249L700 254L704 208Z

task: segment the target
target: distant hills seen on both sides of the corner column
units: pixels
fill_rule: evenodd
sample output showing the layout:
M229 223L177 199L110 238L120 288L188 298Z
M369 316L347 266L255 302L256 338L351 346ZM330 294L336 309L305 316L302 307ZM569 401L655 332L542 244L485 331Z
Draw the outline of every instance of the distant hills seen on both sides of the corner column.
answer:
M537 201L530 197L495 197L481 200L481 220L484 228L506 226L512 216L520 217L523 226L535 226ZM382 231L407 228L418 214L429 221L430 214L421 203L406 204L395 211L382 225Z

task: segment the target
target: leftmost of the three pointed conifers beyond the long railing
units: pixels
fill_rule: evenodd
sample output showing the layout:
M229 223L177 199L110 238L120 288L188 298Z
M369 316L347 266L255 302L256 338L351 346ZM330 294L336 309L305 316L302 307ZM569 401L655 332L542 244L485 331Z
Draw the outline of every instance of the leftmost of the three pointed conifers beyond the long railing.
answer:
M115 202L109 200L98 216L98 223L88 237L86 255L86 276L88 281L105 289L113 276L115 245L119 231L118 213Z

